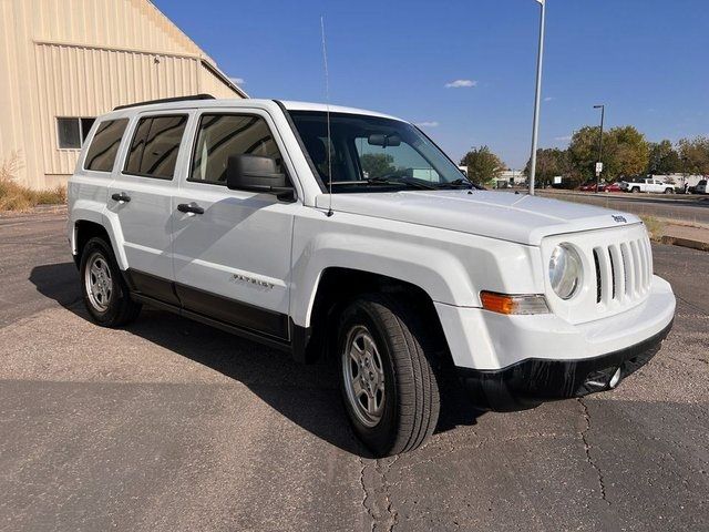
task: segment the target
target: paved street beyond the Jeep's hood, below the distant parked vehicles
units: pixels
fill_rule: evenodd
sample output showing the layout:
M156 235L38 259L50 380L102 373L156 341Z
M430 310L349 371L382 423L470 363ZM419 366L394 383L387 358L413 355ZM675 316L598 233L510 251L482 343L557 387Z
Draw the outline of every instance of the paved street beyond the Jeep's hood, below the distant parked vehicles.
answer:
M537 191L540 195L565 202L587 203L615 211L678 219L696 224L709 224L709 196L705 195L660 195L630 193L563 193L561 191Z

